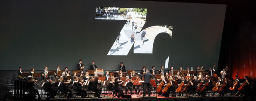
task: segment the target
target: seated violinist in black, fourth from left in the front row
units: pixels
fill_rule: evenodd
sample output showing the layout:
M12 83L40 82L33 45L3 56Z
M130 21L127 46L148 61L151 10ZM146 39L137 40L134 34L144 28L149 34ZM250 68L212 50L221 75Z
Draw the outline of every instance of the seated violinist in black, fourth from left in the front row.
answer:
M77 88L79 90L79 93L82 93L81 97L82 98L87 98L87 91L86 88L84 87L85 82L82 78L79 78L78 82L77 82Z

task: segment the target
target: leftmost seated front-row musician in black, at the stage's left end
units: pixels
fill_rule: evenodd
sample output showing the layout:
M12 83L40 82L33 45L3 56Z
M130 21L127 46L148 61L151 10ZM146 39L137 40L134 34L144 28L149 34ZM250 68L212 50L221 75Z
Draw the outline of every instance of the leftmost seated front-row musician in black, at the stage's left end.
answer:
M27 77L27 82L26 82L26 90L33 92L33 95L36 96L36 94L38 95L38 99L41 99L39 92L36 88L34 88L33 86L36 84L37 80L32 80L32 77L29 76Z

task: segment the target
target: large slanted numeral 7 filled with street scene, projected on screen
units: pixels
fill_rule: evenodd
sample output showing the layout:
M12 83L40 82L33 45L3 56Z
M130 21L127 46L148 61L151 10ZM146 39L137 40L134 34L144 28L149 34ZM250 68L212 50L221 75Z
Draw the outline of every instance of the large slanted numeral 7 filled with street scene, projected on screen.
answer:
M146 17L147 9L96 7L95 19L126 20L107 55L126 56L134 42L138 40L140 31L146 23Z

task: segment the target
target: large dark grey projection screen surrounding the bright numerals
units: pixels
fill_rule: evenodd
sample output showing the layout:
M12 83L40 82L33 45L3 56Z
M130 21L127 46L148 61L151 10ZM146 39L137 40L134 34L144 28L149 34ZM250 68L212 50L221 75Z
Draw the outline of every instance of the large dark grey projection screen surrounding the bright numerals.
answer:
M1 0L0 70L53 70L57 65L76 70L82 59L86 69L91 61L105 70L127 70L143 65L160 69L213 67L220 55L226 5L129 0ZM146 8L146 24L173 26L172 39L156 36L153 54L107 56L125 20L96 20L98 6ZM216 68L217 69L217 68Z

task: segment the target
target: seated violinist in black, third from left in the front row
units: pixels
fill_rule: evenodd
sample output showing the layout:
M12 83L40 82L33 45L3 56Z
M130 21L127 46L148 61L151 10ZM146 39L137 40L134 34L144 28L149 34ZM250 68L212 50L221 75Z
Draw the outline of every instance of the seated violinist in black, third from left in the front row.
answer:
M72 96L72 89L68 88L69 84L71 83L71 80L68 80L68 77L63 77L63 83L62 83L62 89L64 92L69 92L69 94L67 95L67 98L73 98Z

